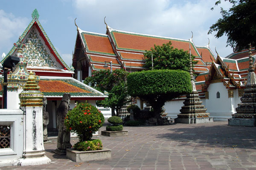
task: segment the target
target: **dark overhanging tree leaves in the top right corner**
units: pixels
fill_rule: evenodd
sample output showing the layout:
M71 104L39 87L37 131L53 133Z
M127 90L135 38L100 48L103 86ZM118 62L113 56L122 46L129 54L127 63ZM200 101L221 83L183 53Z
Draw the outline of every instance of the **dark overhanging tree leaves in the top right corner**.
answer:
M227 1L227 0L225 0ZM256 47L256 1L255 0L228 0L233 6L227 10L221 8L222 18L213 24L208 34L217 31L215 37L227 35L227 46L239 50ZM221 3L218 0L215 5ZM213 9L213 8L212 8Z

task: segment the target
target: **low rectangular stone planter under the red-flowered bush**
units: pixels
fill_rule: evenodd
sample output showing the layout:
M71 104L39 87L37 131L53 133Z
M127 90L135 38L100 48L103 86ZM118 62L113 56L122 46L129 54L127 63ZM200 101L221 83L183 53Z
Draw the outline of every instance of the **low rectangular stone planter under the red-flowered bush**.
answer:
M67 149L67 158L75 162L82 161L93 161L111 158L111 150L89 150L89 151L78 151L73 148Z

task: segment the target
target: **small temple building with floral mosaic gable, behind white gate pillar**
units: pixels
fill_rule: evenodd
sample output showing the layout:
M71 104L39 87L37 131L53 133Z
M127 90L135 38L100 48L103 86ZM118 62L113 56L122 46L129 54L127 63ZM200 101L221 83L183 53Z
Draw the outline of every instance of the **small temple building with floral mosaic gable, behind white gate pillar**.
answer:
M75 107L75 102L87 101L96 106L96 100L104 100L107 96L73 78L73 68L63 61L38 19L39 14L35 9L32 13L32 21L0 62L3 64L9 56L20 58L15 71L9 72L8 75L7 109L20 107L18 95L26 84L29 72L32 71L37 76L39 90L47 98L48 129L55 129L55 113L64 93L71 95L70 109ZM22 50L17 50L18 44L20 46L24 44ZM1 88L3 89L3 84ZM2 94L1 92L1 99Z

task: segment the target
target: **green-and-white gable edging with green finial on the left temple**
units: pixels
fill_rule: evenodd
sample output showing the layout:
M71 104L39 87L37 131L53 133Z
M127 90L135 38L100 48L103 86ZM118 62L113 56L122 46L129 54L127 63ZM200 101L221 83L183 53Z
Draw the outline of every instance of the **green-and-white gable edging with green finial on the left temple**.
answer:
M20 39L23 41L23 38L26 36L26 34L29 32L29 30L32 28L32 26L34 24L37 24L39 29L41 30L41 32L43 33L42 36L45 37L46 41L49 43L50 48L52 48L53 53L55 53L55 55L57 56L58 60L60 61L59 63L64 66L65 68L67 68L67 70L73 72L73 68L70 68L69 66L67 66L67 64L64 62L64 60L61 58L61 56L58 54L57 50L55 49L55 47L53 46L52 42L50 41L49 37L47 36L46 32L44 31L44 28L42 27L41 23L38 20L39 14L38 11L35 9L32 12L32 17L34 16L34 18L32 18L31 22L29 23L29 25L27 26L27 28L25 29L25 31L22 33L22 35L20 35ZM16 44L18 43L18 41L16 42ZM6 55L5 58L2 59L2 61L0 63L3 64L3 61L6 60L7 57L9 57L9 55L12 55L13 52L15 52L15 50L17 49L17 46L12 46L12 49L8 52L8 54ZM57 60L57 62L58 62Z

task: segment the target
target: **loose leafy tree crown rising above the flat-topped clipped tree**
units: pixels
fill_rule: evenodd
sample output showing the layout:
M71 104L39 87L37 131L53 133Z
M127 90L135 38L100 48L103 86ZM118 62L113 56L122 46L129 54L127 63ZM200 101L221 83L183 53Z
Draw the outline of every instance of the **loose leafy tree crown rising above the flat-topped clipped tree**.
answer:
M180 69L189 71L189 53L183 49L177 49L172 46L171 41L163 44L163 46L154 45L154 49L150 51L145 50L144 58L145 65L143 67L152 69L151 57L153 55L154 69ZM197 63L193 61L195 56L192 57L192 64Z

